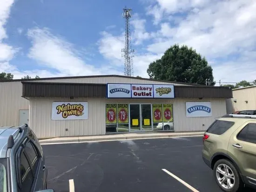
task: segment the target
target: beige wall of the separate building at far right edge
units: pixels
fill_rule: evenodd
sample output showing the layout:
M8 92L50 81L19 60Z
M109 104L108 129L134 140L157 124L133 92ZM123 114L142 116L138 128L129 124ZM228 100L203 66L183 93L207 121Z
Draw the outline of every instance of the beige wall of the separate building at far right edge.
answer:
M236 100L236 102L234 102ZM248 101L246 103L245 101ZM234 111L256 109L256 86L233 90Z

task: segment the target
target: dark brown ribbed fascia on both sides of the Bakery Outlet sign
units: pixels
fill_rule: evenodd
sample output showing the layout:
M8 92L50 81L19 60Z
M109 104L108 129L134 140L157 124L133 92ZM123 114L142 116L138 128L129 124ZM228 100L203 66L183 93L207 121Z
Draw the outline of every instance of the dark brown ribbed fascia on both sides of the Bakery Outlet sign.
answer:
M106 97L106 84L22 82L23 97ZM175 98L232 98L229 87L175 86Z

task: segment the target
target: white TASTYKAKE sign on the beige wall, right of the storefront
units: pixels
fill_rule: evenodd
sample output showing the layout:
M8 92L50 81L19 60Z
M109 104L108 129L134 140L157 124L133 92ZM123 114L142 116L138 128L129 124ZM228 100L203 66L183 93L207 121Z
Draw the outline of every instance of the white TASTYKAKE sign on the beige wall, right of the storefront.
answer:
M211 102L186 102L187 117L211 117Z

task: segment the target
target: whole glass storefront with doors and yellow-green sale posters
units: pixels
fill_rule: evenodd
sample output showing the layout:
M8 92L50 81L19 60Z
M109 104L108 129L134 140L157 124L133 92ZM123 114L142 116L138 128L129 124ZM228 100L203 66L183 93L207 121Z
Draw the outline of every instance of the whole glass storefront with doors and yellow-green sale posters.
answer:
M171 130L172 104L106 104L106 132Z

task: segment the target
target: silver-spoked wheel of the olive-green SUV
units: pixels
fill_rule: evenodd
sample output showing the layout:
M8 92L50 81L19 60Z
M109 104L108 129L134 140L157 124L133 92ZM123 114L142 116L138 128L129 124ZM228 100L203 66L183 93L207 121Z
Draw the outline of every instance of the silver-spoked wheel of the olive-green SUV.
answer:
M220 159L214 165L214 178L224 192L237 192L242 180L236 167L227 159Z

